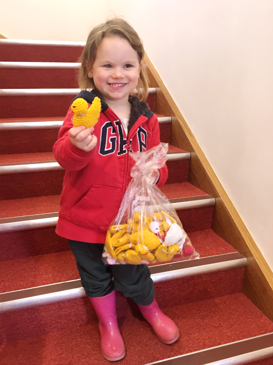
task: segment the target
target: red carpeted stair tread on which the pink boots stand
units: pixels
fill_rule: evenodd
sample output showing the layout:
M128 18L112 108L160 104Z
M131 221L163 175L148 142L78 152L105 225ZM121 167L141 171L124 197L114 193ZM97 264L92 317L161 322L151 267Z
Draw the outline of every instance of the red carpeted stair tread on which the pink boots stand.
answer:
M52 315L53 321L63 322L63 330L44 334L43 330L46 327L44 321L40 323L39 336L31 337L32 334L29 332L27 338L7 342L1 351L3 363L15 365L20 358L22 365L108 364L100 351L97 321L85 313L82 314L84 318L80 325L75 323L77 316L70 315L71 321L69 321L70 308L71 303L68 303L67 312L55 311ZM39 308L35 310L39 312ZM92 311L88 302L85 310L87 313ZM122 360L122 364L143 365L273 331L273 323L242 293L170 306L163 311L177 324L180 331L178 341L171 346L163 344L155 336L150 325L135 310L134 314L130 313L119 320L126 346L126 357Z

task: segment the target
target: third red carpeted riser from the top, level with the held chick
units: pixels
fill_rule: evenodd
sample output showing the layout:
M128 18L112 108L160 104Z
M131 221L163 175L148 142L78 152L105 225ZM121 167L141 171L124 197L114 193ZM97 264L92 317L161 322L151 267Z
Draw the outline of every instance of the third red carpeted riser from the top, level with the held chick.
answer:
M1 118L41 118L66 115L75 95L0 96ZM147 97L154 111L155 94Z

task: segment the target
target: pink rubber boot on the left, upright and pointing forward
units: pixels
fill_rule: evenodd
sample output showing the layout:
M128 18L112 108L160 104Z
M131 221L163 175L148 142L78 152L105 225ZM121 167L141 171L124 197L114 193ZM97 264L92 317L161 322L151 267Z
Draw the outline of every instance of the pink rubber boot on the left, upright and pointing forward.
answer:
M99 319L100 347L103 356L110 361L122 359L125 347L116 321L115 291L103 297L89 299Z

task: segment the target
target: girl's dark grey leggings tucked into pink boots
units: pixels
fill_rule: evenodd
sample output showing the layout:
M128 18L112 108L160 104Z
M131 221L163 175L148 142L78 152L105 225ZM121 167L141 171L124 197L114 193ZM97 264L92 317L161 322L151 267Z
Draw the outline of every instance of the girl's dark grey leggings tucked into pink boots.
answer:
M68 242L88 297L104 296L116 289L141 306L152 303L154 283L146 265L104 265L103 244L71 239Z

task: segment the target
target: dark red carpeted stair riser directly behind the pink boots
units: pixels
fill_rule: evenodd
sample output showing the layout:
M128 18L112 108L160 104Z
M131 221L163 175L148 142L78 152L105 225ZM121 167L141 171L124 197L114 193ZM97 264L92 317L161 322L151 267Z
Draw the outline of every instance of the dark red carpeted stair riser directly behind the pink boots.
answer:
M174 281L174 285L170 285L170 282L158 283L155 286L155 295L163 311L169 311L171 308L183 305L188 305L189 310L190 305L200 303L201 300L214 299L217 303L220 297L226 297L227 295L234 295L236 293L238 295L241 291L243 276L244 270L237 269L219 272L219 277L217 274L211 273L191 277L189 280L177 279ZM238 280L238 283L235 284L234 280ZM215 285L212 283L219 284L219 292L213 288ZM178 288L180 289L179 291L177 290ZM172 296L171 302L170 298L166 297L165 291L167 291L168 295ZM196 295L196 291L200 292L200 297ZM183 292L183 296L181 292ZM236 304L235 302L233 306L236 306ZM139 311L135 303L130 299L126 299L120 292L117 292L116 295L116 308L118 318L132 315L139 316ZM211 311L213 311L213 308L210 308L207 319L210 318ZM229 310L227 309L227 311ZM183 316L183 314L181 313L180 316ZM261 315L258 319L260 320L260 318ZM5 333L6 341L11 342L54 331L61 331L64 328L75 325L82 326L86 323L96 323L97 318L90 301L86 297L83 297L15 312L6 312L0 315L0 322ZM265 317L263 322L267 323L268 319ZM262 323L260 323L261 325ZM267 330L267 327L264 330Z

